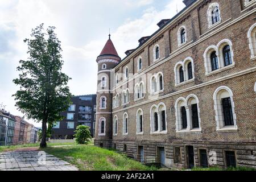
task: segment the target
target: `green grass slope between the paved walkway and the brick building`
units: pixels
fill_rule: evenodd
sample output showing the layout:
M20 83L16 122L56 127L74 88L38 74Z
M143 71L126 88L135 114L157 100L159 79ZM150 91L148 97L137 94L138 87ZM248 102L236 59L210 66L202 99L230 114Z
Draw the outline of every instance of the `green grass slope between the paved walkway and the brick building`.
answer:
M83 171L157 170L156 167L144 166L133 159L127 158L123 154L92 145L48 147L44 151L74 164Z

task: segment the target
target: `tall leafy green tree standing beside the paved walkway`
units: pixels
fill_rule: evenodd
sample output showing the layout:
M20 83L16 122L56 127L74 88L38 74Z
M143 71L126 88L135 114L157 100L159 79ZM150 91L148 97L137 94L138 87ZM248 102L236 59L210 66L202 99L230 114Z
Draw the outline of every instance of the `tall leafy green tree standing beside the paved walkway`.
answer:
M47 123L52 125L63 117L71 103L71 93L67 86L71 79L61 72L63 60L60 41L54 32L55 27L44 31L43 24L32 29L28 45L28 59L20 60L17 71L19 78L13 80L19 90L13 95L16 105L28 119L42 122L40 147L46 147Z

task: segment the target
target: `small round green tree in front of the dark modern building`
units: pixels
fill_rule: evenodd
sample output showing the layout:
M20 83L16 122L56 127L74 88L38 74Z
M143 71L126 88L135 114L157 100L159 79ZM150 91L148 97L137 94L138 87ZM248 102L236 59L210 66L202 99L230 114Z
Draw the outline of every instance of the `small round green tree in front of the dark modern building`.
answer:
M78 144L88 144L92 137L90 136L90 127L79 125L76 127L75 135Z

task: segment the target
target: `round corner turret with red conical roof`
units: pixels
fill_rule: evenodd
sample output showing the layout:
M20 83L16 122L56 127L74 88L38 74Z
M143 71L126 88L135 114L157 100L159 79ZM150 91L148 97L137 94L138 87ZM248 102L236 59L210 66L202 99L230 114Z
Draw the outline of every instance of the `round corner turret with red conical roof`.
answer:
M113 69L121 58L109 39L97 57L98 82L97 82L97 113L96 131L94 144L96 146L110 148L112 143L112 85L111 69Z

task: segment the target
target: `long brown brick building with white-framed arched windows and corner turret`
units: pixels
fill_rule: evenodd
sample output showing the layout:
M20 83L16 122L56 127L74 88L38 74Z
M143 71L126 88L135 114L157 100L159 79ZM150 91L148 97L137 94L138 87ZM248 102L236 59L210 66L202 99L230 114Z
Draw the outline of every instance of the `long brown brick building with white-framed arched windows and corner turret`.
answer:
M256 1L185 0L98 63L96 146L167 167L256 167Z

